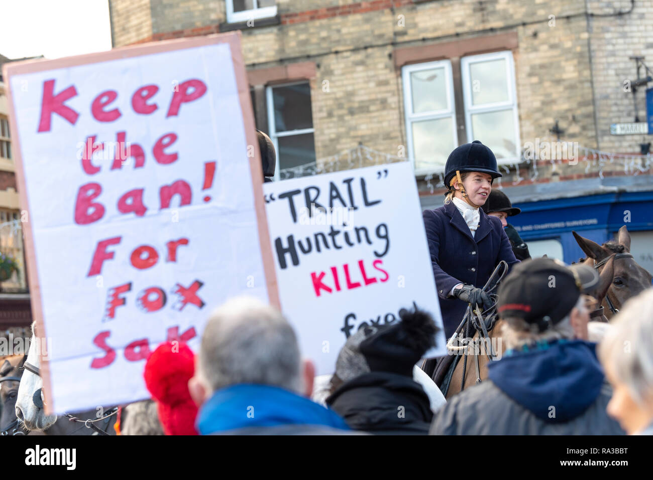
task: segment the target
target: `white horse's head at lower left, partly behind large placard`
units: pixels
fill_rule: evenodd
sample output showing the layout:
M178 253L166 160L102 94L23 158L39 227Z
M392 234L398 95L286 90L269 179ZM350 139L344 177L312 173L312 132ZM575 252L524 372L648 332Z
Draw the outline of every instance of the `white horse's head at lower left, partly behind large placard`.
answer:
M32 331L34 332L33 325ZM41 346L41 342L35 341L35 337L36 335L33 333L26 361L40 368L39 346ZM42 401L39 401L42 388L43 380L40 376L24 370L16 398L16 417L29 430L44 430L57 421L57 415L46 415L43 410Z

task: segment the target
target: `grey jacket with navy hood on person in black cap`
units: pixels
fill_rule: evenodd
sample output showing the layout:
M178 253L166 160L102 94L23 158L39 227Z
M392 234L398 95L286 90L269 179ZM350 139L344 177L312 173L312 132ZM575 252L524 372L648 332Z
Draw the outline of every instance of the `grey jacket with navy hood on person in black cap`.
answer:
M605 412L612 390L596 344L582 340L506 352L488 366L489 380L451 398L431 434L619 435Z

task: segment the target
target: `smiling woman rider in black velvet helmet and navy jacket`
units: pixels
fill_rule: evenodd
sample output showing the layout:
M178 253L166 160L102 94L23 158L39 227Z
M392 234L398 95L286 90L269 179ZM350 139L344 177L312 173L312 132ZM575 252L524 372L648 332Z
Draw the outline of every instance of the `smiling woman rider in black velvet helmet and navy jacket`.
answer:
M511 269L518 263L501 220L480 208L501 176L486 145L478 140L460 145L445 166L445 204L422 213L447 338L468 304L492 306L482 287L496 265L505 260Z

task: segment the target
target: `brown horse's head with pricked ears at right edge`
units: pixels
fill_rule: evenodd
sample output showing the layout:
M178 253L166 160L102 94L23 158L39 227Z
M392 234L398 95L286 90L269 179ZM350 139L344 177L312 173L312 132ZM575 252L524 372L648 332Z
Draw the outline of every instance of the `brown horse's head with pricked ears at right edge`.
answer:
M572 233L582 251L596 263L601 263L602 260L615 254L613 279L609 290L604 295L611 300L614 308L618 310L630 297L650 288L651 274L637 265L632 256L620 255L630 253L630 233L625 225L619 229L616 241L609 241L603 245L581 237L576 232ZM605 265L607 262L599 267L599 273L605 269ZM605 315L611 318L612 312L606 308Z

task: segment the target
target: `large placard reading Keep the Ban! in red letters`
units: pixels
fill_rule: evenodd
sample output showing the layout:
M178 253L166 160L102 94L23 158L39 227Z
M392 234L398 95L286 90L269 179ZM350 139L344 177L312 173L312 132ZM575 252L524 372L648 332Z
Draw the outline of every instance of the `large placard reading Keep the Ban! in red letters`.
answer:
M11 64L5 78L49 409L149 398L157 344L197 348L239 293L278 305L239 35Z

